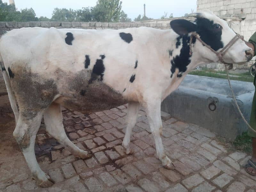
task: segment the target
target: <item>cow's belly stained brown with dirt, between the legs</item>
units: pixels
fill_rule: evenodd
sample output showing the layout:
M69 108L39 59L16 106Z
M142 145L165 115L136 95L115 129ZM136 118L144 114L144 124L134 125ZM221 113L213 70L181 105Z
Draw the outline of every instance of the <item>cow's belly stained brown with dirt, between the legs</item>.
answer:
M75 76L63 76L57 80L59 97L54 102L82 113L91 113L123 105L129 100L107 84L82 70Z

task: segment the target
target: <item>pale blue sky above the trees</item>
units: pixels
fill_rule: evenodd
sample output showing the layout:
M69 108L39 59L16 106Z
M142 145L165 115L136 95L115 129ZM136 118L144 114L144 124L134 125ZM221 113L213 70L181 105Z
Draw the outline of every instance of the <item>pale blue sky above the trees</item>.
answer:
M36 16L52 17L54 8L81 9L82 7L95 6L97 0L14 0L16 8L33 8ZM9 0L3 0L9 4ZM123 0L122 10L132 20L139 14L143 15L143 4L146 4L146 16L159 19L164 12L173 13L173 17L181 17L185 13L196 11L196 0Z

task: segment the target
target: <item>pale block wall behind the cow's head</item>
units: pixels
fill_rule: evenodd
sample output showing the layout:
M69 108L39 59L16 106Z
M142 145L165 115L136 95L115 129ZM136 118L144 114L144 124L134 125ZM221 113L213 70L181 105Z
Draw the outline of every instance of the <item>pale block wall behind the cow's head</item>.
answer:
M236 33L244 36L246 41L256 32L256 0L197 0L197 11L210 10L217 16L225 18ZM255 62L234 65L234 68L248 69ZM208 68L223 69L222 64L209 64Z

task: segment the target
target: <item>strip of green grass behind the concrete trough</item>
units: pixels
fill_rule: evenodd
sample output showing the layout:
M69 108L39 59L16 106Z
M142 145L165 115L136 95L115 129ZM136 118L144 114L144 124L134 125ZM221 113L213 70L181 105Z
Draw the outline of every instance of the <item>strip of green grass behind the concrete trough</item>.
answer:
M215 78L221 78L221 79L227 79L227 75L225 71L214 71L214 70L193 70L189 73L190 75L198 75L198 76L206 76L206 77L215 77ZM253 82L253 77L248 72L246 73L229 73L231 76L229 78L231 80L237 80L237 81L246 81L246 82ZM234 76L233 76L234 75Z

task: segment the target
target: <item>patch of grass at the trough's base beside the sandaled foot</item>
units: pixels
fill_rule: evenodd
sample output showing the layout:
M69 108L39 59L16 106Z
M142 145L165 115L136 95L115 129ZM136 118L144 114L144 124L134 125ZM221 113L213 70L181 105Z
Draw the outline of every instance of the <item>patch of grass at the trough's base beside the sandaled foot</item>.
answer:
M234 141L227 140L224 137L217 137L216 139L230 151L242 151L252 154L252 138L246 132L239 135Z

